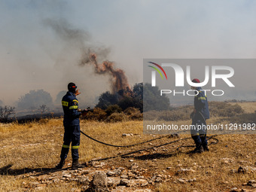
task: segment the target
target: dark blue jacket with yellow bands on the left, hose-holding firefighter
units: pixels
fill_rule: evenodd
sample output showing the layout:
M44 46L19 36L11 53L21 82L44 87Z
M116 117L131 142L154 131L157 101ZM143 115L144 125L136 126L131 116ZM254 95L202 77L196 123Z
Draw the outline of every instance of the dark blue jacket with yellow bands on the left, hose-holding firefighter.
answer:
M62 108L64 111L64 126L77 126L79 125L79 116L81 112L78 112L78 99L74 93L67 92L62 98Z

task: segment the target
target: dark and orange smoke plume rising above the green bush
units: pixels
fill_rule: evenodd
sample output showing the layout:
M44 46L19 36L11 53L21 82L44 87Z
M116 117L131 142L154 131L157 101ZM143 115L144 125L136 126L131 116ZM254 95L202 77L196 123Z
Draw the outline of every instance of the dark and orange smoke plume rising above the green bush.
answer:
M44 24L50 26L59 38L66 41L70 46L77 46L81 50L81 59L79 66L94 66L94 72L99 75L109 75L111 83L111 92L117 93L119 90L130 89L125 73L122 69L115 69L114 62L110 62L105 58L108 56L109 49L105 47L97 47L90 41L90 35L81 29L72 28L65 20L44 20ZM104 59L101 64L99 59Z

